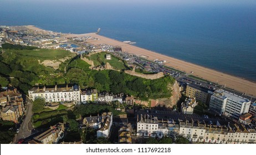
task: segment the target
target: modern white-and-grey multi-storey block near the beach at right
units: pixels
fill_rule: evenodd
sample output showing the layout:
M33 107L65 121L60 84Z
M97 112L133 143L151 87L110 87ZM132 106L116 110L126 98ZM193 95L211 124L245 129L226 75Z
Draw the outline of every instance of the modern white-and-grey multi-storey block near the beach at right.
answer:
M250 101L225 90L217 90L211 96L209 108L219 115L239 119L239 116L249 111Z

